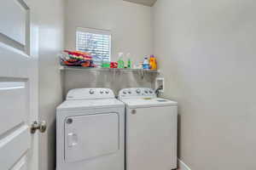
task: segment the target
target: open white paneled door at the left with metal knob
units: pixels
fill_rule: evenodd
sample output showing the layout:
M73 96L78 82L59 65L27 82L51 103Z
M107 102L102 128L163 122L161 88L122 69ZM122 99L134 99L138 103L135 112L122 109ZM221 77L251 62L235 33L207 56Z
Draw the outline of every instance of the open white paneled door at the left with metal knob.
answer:
M37 28L31 0L0 3L0 169L38 170Z

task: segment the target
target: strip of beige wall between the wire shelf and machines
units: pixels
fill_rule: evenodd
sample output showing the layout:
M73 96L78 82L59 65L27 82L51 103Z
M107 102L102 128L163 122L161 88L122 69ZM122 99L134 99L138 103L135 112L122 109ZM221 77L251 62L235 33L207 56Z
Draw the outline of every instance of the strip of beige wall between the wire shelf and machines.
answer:
M137 71L63 71L64 95L73 88L154 88L157 73Z

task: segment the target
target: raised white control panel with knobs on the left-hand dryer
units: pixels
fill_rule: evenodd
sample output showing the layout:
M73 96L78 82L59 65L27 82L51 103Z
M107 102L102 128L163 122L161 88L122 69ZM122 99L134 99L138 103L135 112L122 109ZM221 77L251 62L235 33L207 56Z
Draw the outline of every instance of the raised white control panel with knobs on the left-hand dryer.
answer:
M67 93L67 100L113 98L113 91L109 88L76 88Z

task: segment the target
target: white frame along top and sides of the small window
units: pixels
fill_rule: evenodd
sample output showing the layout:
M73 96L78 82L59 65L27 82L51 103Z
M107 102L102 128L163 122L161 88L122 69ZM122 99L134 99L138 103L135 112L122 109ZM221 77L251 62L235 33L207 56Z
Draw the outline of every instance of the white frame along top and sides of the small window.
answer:
M109 44L109 62L111 61L111 55L113 54L112 52L112 32L110 30L101 30L101 29L96 29L96 28L83 28L83 27L77 27L76 29L76 50L79 50L77 47L78 44L78 36L77 36L77 32L78 31L82 31L82 32L90 32L92 34L102 34L102 35L108 35L110 36L110 44Z

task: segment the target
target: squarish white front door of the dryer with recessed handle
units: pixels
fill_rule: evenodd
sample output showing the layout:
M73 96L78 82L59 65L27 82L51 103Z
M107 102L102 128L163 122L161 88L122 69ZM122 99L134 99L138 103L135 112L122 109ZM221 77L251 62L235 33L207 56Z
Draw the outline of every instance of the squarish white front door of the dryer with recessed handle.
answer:
M119 115L69 116L65 121L65 161L107 156L119 150Z

